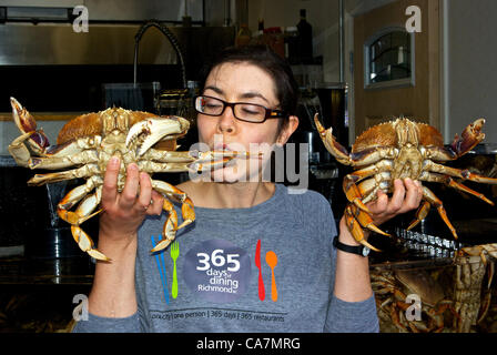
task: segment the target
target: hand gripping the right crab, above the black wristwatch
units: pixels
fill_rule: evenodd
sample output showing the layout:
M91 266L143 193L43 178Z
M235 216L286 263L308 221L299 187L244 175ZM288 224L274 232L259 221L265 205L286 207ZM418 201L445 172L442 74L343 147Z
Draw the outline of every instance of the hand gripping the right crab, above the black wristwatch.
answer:
M423 186L419 181L396 179L390 199L386 193L378 191L377 199L366 206L372 212L375 225L381 225L399 214L417 209L422 199Z

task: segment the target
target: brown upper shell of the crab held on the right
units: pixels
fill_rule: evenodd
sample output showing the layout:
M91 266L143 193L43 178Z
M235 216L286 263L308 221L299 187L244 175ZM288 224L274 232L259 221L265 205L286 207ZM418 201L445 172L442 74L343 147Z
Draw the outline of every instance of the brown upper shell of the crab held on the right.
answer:
M416 123L419 145L444 146L444 138L437 129L426 123ZM377 146L398 146L397 133L393 121L374 125L363 132L352 146L352 153L367 151Z

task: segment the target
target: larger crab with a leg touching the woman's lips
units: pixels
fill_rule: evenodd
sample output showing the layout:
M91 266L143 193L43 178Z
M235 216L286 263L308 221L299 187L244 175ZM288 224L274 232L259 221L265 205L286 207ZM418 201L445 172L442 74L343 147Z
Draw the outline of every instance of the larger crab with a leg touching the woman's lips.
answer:
M88 113L69 121L59 132L58 144L50 145L42 129L14 98L10 99L13 120L21 135L9 145L9 152L20 166L64 171L36 174L29 185L43 185L71 179L85 179L85 183L71 190L58 204L58 215L71 224L71 233L79 247L90 256L110 261L95 248L92 239L81 224L102 212L103 176L109 160L120 158L118 191L125 182L125 169L136 163L140 171L204 172L224 166L235 158L246 158L246 152L235 151L175 151L176 139L186 134L190 122L180 116L159 116L148 112L110 108ZM69 170L68 170L69 169ZM162 230L162 240L151 252L160 252L175 239L178 230L195 220L190 197L178 187L160 180L152 180L152 187L164 196L163 210L169 213ZM178 225L173 203L181 203L183 223ZM79 205L73 210L77 204ZM97 211L95 211L97 210Z

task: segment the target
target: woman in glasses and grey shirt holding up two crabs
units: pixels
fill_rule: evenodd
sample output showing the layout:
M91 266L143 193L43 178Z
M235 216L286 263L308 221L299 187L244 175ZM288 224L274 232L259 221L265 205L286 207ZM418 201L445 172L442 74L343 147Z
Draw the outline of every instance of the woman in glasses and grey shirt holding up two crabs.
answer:
M298 125L298 90L280 57L265 47L230 49L207 72L196 99L200 142L251 153L254 144L286 143ZM264 164L268 150L260 151ZM162 197L135 165L118 193L119 162L111 161L99 250L112 263L97 264L90 320L75 331L377 332L367 257L332 245L335 236L358 245L344 219L337 233L322 195L290 194L247 166L237 161L179 185L196 220L178 231L179 247L153 255L166 217ZM395 181L392 199L379 193L368 207L379 225L420 197L417 183Z

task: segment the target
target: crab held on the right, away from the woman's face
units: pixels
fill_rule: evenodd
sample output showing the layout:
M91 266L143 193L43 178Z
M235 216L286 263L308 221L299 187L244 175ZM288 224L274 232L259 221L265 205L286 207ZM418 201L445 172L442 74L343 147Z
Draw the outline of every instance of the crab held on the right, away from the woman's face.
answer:
M444 146L444 139L434 126L398 118L365 131L357 138L351 153L333 136L332 128L326 130L321 124L318 114L314 116L314 122L329 153L339 163L355 169L343 181L343 190L348 200L344 214L345 221L354 239L376 252L379 250L366 241L363 229L387 236L389 234L373 223L366 203L376 200L379 190L390 193L395 179L409 178L413 181L444 183L494 205L494 202L485 195L465 186L454 178L487 184L497 184L497 179L443 164L466 154L485 139L481 132L484 119L478 119L466 126L460 136L456 134L453 143ZM407 230L412 230L424 220L432 205L437 209L438 214L457 239L457 232L447 216L442 200L426 186L423 186L422 204Z

